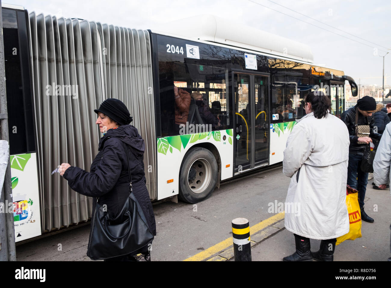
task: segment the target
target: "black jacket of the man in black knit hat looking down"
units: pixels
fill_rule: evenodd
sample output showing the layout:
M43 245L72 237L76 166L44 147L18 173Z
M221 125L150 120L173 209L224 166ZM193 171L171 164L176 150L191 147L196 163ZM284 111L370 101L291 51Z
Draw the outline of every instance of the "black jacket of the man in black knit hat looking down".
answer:
M366 144L357 144L359 138L356 136L356 130L355 130L356 108L357 105L343 112L341 115L341 120L344 121L349 131L349 139L350 139L349 153L362 155L364 153L364 148ZM373 116L364 117L359 112L357 125L368 125L368 123L370 128L369 137L371 137L372 139L380 140L382 135L373 132L373 126L375 123L375 121L373 120Z

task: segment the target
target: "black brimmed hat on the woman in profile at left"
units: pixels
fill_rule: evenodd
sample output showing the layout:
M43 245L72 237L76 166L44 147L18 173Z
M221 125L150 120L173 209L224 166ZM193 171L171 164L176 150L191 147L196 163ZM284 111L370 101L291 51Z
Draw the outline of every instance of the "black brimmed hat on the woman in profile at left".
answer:
M129 110L126 108L126 105L118 99L106 99L102 102L102 104L100 104L99 109L95 109L94 111L97 114L98 112L102 112L103 114L113 119L113 121L117 122L119 125L126 125L133 121Z

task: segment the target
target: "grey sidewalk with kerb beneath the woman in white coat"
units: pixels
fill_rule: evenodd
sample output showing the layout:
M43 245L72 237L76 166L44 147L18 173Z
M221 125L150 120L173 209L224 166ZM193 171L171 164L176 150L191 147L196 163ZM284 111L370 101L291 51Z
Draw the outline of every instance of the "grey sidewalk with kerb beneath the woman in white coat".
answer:
M390 254L391 196L389 190L375 190L368 180L365 211L374 223L362 221L362 237L346 240L336 246L334 261L387 261ZM252 261L282 261L295 252L294 236L278 221L251 235ZM311 250L319 249L320 240L311 239ZM234 261L233 248L211 257L207 261Z

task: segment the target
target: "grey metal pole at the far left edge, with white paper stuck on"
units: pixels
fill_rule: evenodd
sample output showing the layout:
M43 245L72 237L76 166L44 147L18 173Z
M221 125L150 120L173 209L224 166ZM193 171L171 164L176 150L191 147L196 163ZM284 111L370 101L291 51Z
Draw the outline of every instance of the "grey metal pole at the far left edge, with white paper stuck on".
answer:
M5 63L4 63L4 37L3 14L0 0L0 136L2 140L9 142L7 93L5 90ZM11 167L8 158L5 170L4 185L1 190L0 201L13 203L11 190ZM6 213L0 213L0 261L16 261L14 214L8 213L8 205L3 204ZM13 211L12 211L13 212Z

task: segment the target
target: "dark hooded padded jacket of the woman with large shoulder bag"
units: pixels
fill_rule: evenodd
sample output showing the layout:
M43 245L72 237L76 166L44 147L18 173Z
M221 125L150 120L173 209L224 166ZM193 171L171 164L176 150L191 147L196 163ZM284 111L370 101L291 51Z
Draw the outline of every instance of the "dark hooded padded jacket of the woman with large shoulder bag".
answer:
M145 186L145 144L134 126L121 125L117 129L109 129L100 138L99 152L92 161L90 172L71 166L66 169L63 177L76 192L95 197L92 202L92 215L96 207L96 197L99 197L100 205L106 204L108 211L118 215L129 196L128 161L123 143L128 150L133 194L144 212L151 232L156 235L155 216Z

